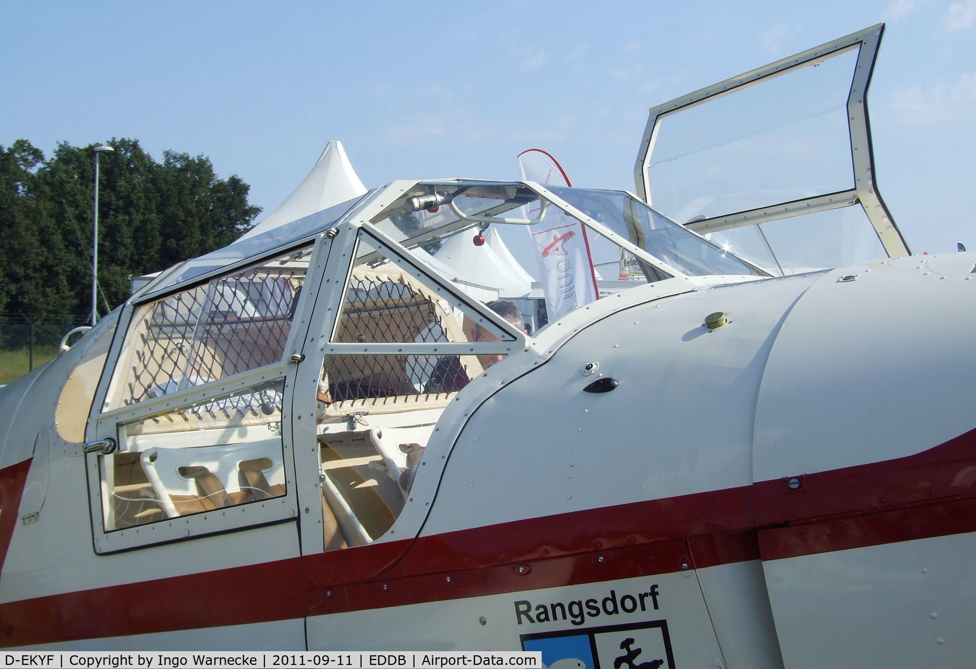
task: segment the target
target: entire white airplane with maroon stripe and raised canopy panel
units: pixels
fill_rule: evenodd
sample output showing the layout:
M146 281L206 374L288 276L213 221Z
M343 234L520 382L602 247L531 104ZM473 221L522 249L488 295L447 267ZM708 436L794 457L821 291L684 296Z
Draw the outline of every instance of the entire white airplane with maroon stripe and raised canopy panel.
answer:
M160 273L0 391L0 646L969 665L976 255L877 193L882 30L652 109L637 194L397 180ZM621 273L531 335L425 259L558 216Z

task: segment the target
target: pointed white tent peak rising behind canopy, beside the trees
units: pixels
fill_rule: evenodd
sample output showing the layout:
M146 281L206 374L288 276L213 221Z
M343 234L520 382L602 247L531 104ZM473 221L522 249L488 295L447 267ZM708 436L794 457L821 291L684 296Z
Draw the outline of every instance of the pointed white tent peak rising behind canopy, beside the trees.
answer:
M321 212L365 193L366 186L356 177L343 142L330 141L315 162L315 167L295 192L264 220L241 235L240 239L247 239L303 216Z

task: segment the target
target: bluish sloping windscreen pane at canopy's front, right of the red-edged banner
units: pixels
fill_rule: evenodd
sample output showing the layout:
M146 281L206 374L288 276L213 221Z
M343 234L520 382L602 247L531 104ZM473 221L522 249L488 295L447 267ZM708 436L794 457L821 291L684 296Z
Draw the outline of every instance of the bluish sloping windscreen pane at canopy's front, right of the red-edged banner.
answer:
M661 216L627 193L556 186L549 190L682 274L764 276L763 272ZM595 231L589 234L590 244L600 243L600 236ZM628 271L627 262L622 260L620 268L623 278Z

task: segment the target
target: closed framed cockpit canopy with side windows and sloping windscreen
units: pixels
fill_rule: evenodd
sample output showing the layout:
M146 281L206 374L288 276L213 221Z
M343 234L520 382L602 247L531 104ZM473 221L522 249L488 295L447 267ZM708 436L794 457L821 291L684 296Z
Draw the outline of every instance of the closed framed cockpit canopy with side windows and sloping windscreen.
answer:
M293 448L326 550L392 535L441 413L529 350L526 315L716 275L764 276L628 193L519 181L395 181L183 262L105 334L97 550L294 518Z

